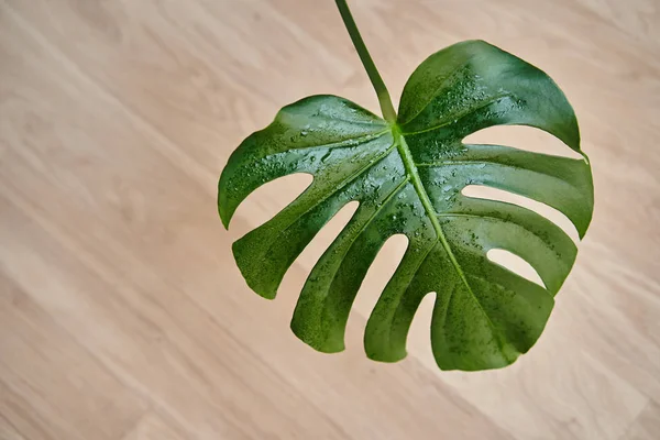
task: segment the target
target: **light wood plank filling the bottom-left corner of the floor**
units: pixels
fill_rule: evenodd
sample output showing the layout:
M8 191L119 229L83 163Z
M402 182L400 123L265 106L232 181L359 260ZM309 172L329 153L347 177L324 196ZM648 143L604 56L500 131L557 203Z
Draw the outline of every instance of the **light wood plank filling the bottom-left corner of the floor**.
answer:
M142 417L143 400L4 273L0 273L0 414L29 438L117 439ZM34 419L43 427L35 436Z

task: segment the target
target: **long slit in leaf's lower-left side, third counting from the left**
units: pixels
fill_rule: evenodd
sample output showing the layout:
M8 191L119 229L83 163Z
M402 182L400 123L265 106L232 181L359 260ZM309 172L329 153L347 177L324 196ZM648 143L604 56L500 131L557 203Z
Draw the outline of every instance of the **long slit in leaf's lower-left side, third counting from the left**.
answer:
M408 249L408 238L395 234L385 241L358 292L346 326L346 348L362 346L366 320ZM360 316L355 319L355 314ZM354 345L353 345L354 344Z

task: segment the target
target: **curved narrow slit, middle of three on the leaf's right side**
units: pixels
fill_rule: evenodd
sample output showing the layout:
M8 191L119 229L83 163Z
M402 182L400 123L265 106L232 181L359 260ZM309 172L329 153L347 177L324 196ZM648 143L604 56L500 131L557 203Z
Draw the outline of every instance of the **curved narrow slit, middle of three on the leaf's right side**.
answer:
M483 185L468 185L461 191L464 196L474 197L480 199L490 199L506 201L508 204L518 205L522 208L535 211L536 213L543 216L548 220L552 221L559 228L561 228L566 235L573 240L573 242L580 242L580 235L575 226L559 210L539 201L532 200L528 197L519 196L503 189L492 188Z

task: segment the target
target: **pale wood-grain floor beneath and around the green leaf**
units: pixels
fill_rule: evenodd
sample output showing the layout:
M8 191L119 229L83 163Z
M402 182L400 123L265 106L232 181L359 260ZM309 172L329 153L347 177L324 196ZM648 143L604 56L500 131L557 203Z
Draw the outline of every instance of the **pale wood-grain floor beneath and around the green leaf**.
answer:
M505 370L440 372L425 301L410 355L369 361L398 239L348 350L299 342L297 292L350 208L275 301L245 286L231 242L308 180L260 189L227 232L231 151L307 95L377 109L332 0L0 0L0 439L660 438L660 2L351 3L394 96L432 52L484 38L573 102L596 210L538 344ZM498 130L479 135L563 152Z

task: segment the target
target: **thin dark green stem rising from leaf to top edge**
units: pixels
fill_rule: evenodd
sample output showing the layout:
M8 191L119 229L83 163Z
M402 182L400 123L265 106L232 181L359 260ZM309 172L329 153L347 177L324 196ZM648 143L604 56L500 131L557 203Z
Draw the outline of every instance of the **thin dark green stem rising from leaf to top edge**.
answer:
M353 45L358 51L358 55L360 55L360 61L362 61L362 65L369 75L369 79L371 80L374 89L376 90L376 95L378 96L378 102L381 103L381 111L383 112L383 118L387 122L394 123L396 121L396 111L394 110L394 106L392 105L392 98L389 97L389 92L387 91L387 87L385 87L385 82L374 64L366 45L364 44L364 40L362 40L362 35L360 35L360 31L358 30L358 25L355 24L355 20L353 20L353 15L351 14L351 10L346 3L346 0L334 0L337 3L337 8L339 9L339 13L341 14L341 19L346 26L346 31L349 31L349 35L351 35L351 40L353 41Z

